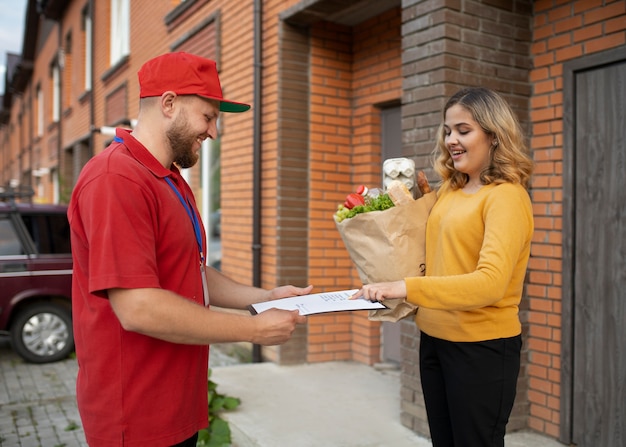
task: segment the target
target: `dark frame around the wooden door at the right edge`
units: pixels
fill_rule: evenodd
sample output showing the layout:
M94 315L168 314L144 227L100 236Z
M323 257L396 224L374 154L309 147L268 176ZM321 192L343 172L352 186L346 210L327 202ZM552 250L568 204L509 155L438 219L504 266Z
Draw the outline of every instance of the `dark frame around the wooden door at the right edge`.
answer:
M560 438L570 444L574 420L574 240L575 225L575 125L576 74L623 60L626 46L583 56L563 64L563 286L561 344Z

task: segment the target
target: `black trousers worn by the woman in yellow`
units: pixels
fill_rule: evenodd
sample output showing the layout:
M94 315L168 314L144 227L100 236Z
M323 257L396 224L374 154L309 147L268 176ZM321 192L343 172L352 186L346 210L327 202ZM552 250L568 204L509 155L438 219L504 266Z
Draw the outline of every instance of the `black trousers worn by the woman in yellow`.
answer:
M522 337L456 343L421 333L420 374L433 447L504 447Z

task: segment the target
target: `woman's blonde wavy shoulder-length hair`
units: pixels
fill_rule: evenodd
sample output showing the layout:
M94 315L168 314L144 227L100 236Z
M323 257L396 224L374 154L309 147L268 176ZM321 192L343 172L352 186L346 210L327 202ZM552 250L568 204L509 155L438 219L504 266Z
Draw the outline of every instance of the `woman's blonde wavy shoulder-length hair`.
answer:
M445 144L443 121L448 109L457 104L467 110L474 121L497 141L490 152L489 166L480 173L481 183L519 183L528 189L534 163L519 122L509 104L498 93L483 87L460 90L448 99L443 108L443 120L437 131L437 144L433 151L433 167L443 181L449 180L452 189L460 189L469 180L467 174L454 168Z

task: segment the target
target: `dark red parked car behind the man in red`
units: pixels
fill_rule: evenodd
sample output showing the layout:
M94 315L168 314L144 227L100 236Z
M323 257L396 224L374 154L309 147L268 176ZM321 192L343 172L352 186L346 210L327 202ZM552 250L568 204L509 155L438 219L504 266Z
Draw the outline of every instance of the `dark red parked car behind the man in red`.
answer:
M62 205L0 202L0 335L33 363L74 351L66 213Z

